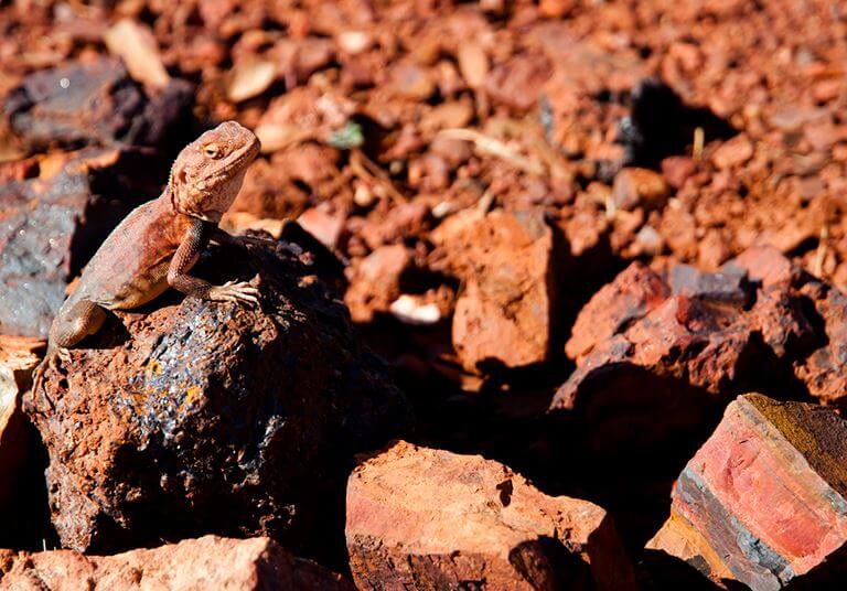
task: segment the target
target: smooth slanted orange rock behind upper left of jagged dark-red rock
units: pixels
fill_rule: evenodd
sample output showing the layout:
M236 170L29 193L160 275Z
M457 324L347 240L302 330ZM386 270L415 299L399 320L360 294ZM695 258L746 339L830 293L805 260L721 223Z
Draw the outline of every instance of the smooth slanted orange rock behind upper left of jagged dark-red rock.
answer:
M582 308L565 353L579 363L598 343L643 318L668 296L671 289L657 273L641 262L633 262Z

